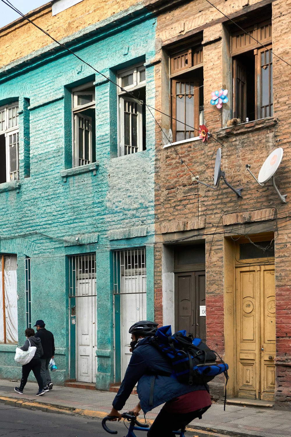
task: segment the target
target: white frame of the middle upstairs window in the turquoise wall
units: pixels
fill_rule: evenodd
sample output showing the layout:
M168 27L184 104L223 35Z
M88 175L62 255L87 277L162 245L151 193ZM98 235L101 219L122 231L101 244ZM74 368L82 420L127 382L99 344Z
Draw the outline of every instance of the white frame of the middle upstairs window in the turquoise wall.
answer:
M95 109L95 91L87 90L94 87L94 83L86 83L80 87L72 89L72 154L73 154L73 167L79 167L82 165L92 163L92 118L82 114L82 111L86 109ZM78 96L92 95L92 102L84 105L78 105ZM83 118L89 120L89 160L85 160L85 150L83 148L83 158L79 157L79 119ZM84 142L85 147L85 142ZM81 162L80 162L81 161ZM87 161L87 162L86 162Z

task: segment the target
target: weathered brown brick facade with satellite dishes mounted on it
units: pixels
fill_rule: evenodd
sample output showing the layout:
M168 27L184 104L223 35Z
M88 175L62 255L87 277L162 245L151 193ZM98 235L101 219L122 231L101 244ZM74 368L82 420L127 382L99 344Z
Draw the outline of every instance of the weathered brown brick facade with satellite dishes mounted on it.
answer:
M259 16L271 7L273 28L273 52L291 62L291 36L288 23L291 22L291 3L284 1L221 1L216 7L230 18ZM268 6L269 5L269 6ZM243 21L240 21L240 25ZM235 359L231 358L235 345L231 346L235 323L233 304L229 304L234 290L233 240L245 234L263 236L271 232L275 239L275 284L276 284L276 385L275 404L290 408L291 386L291 308L288 271L290 259L291 230L290 207L281 204L274 187L269 181L259 187L248 172L246 163L258 174L260 166L269 153L277 147L284 149L282 163L276 173L276 184L281 194L288 194L290 202L290 118L291 105L286 98L290 88L291 67L273 55L274 116L262 120L226 128L226 121L232 118L232 94L229 59L229 21L206 2L186 2L157 19L157 39L161 42L161 64L156 66L156 108L168 114L169 101L166 91L168 81L163 69L167 69L171 46L185 43L187 37L202 32L203 74L204 74L204 122L211 136L208 142L201 140L184 142L163 149L168 141L156 127L155 168L155 314L162 323L161 314L169 302L162 300L166 286L163 286L163 250L165 243L181 244L185 241L205 241L206 271L206 329L207 341L211 347L226 357L230 364L230 395L236 395L233 382ZM210 104L211 92L227 88L229 102L220 110ZM168 133L169 119L156 112L156 118ZM223 128L222 128L223 124ZM196 134L197 135L197 134ZM216 141L216 139L218 141ZM193 174L199 180L213 185L213 168L216 150L222 150L222 170L233 187L243 187L243 198L223 184L219 191L194 182ZM229 240L231 237L231 240ZM231 241L231 243L229 243ZM230 245L230 246L229 246ZM175 246L174 246L175 247ZM168 287L168 284L167 284ZM165 309L164 309L165 314ZM167 313L168 314L168 313ZM229 320L232 320L230 323ZM166 319L164 323L168 323ZM226 350L226 341L228 350ZM232 352L231 352L232 350ZM234 360L234 361L233 361ZM232 368L231 368L232 367ZM222 380L221 380L222 382ZM216 382L212 386L214 397L222 395L222 388Z

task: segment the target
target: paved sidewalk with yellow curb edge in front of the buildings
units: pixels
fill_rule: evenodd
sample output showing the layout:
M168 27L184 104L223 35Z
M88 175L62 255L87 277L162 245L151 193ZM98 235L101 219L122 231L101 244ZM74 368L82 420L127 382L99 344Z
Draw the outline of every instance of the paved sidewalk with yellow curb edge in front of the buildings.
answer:
M70 388L54 385L45 395L36 397L37 384L27 382L23 395L14 392L19 382L0 379L0 403L20 406L28 409L42 409L64 414L79 414L102 418L110 411L115 393ZM124 411L129 411L138 402L137 395L130 395ZM1 406L0 406L1 409ZM153 420L159 408L147 413L147 419ZM236 405L214 404L203 415L202 420L195 420L191 427L197 430L216 431L235 436L290 437L291 412L272 408L251 408Z

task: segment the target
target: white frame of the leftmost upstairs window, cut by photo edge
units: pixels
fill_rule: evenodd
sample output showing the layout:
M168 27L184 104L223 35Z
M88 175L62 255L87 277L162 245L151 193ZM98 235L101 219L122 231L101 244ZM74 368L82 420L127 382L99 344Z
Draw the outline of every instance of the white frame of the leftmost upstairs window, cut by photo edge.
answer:
M16 121L17 124L9 128L9 110L17 108L16 110ZM5 156L6 156L6 182L13 180L19 180L19 128L18 128L18 102L14 102L10 105L1 106L0 113L4 110L4 129L0 130L0 135L5 136ZM1 126L2 127L2 126ZM18 135L18 141L16 142L16 170L11 171L10 163L10 145L9 136ZM13 146L12 146L13 147ZM16 173L16 174L14 174Z

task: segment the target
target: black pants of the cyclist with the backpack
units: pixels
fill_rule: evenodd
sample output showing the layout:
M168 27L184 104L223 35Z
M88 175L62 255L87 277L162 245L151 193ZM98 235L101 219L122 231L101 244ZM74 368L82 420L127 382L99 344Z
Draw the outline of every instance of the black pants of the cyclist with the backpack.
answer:
M154 423L147 433L147 437L173 437L172 431L178 431L185 428L188 423L205 413L210 405L200 410L191 411L191 413L169 413L161 409Z

